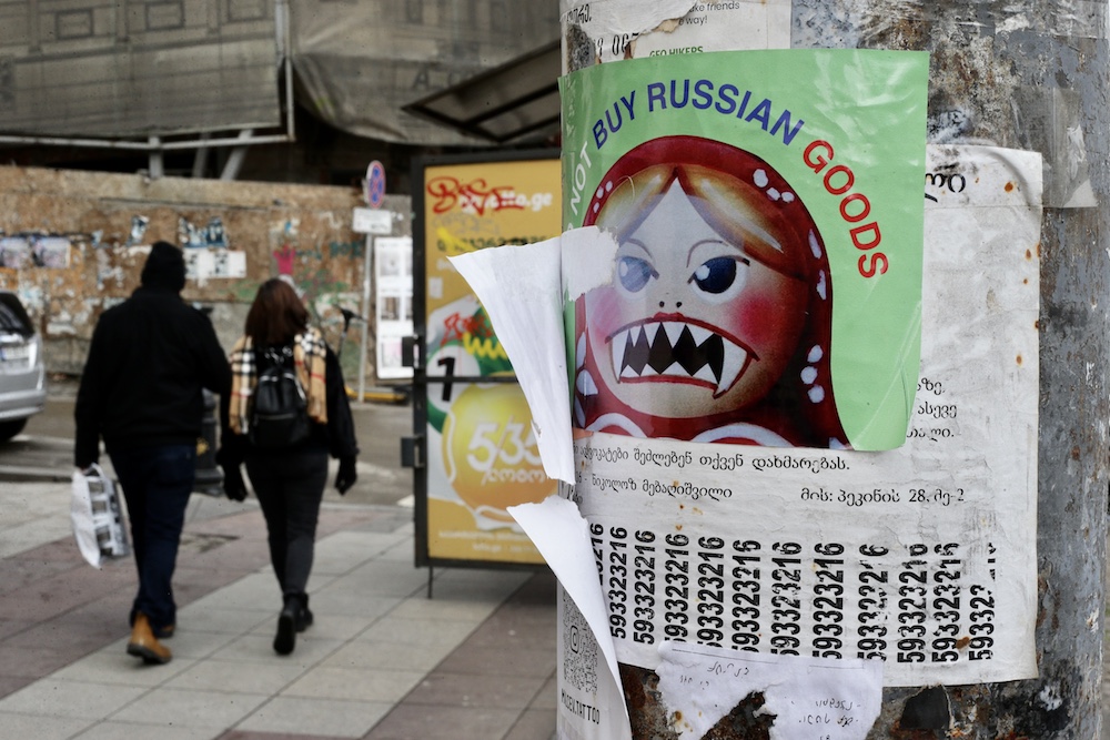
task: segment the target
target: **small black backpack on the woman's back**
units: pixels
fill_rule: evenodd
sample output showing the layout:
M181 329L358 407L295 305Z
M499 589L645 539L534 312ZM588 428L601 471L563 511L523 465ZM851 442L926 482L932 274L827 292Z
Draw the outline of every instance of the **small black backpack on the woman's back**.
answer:
M270 347L259 361L248 438L261 449L280 449L303 442L312 427L304 388L293 366L293 348Z

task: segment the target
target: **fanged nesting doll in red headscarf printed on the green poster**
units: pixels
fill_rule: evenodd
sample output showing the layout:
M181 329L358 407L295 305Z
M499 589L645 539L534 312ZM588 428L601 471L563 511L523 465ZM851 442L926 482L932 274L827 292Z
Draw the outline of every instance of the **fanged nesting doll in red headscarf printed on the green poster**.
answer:
M766 162L696 136L648 141L613 165L583 225L619 246L613 285L575 303L576 426L847 446L829 372L828 257Z

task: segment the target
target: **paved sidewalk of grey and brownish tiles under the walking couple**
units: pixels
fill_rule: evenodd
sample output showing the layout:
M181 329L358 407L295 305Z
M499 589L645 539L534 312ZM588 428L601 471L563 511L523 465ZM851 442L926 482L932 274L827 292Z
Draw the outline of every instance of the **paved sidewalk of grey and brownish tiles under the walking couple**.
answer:
M0 483L0 736L37 740L549 740L555 580L413 567L412 510L325 504L315 624L271 648L281 598L254 499L194 495L173 660L129 657L130 559L95 570L69 486Z

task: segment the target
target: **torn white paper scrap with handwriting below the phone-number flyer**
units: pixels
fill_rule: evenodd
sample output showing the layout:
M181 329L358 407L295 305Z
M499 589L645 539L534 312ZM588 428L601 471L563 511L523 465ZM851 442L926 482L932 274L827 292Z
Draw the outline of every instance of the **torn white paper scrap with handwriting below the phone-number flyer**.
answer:
M680 740L697 740L754 691L771 740L862 740L882 707L882 661L659 645L659 691Z

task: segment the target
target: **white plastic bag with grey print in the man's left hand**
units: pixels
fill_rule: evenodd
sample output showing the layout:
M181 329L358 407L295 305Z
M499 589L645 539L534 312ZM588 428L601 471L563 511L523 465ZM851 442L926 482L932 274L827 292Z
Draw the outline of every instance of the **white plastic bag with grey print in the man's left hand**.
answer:
M77 546L89 565L99 568L107 558L131 553L119 489L99 465L88 474L73 472L70 518Z

